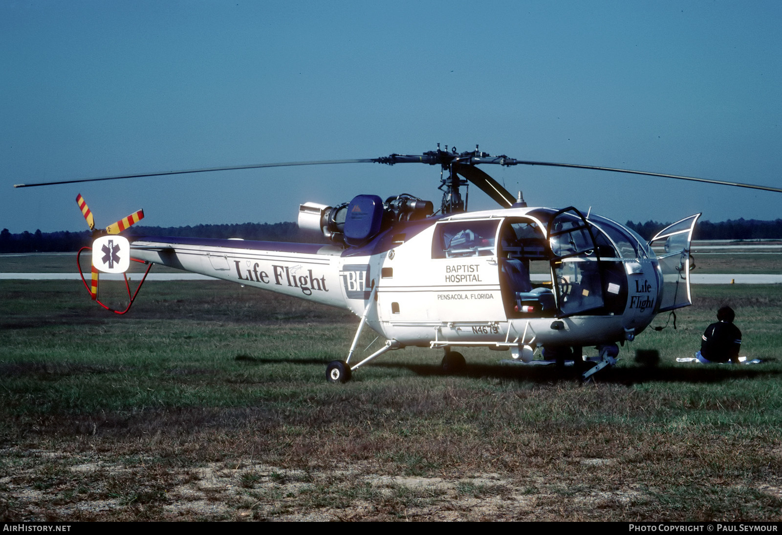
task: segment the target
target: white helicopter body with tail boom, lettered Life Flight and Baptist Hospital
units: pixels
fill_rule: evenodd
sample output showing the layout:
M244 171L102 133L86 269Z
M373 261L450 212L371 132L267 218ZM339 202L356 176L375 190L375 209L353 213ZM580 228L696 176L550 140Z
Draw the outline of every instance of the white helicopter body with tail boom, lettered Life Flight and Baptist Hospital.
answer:
M428 217L346 248L136 236L131 253L366 313L371 329L414 346L599 346L632 339L670 308L664 293L673 280L634 232L575 209ZM689 304L673 282L673 307Z

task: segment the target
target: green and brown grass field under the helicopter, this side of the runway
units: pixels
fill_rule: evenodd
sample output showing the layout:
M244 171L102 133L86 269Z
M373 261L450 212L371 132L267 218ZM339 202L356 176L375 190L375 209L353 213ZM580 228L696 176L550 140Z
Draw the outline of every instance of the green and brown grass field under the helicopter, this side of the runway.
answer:
M357 318L224 282L0 296L2 520L782 519L782 285L695 286L586 386L423 349L334 386ZM677 364L722 303L768 362Z

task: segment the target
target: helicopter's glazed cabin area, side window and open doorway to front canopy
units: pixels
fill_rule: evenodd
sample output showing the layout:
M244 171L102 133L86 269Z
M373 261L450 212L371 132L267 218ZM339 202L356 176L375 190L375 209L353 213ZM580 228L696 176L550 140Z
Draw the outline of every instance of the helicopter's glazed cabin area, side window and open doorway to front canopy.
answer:
M432 259L464 257L497 257L508 317L564 317L621 314L626 264L654 253L621 224L570 207L440 221Z

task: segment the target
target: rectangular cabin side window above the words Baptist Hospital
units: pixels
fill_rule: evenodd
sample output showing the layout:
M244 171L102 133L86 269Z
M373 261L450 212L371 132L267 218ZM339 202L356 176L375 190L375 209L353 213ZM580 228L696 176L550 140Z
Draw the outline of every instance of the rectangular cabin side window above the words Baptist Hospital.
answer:
M488 257L497 253L498 220L450 221L438 224L432 258Z

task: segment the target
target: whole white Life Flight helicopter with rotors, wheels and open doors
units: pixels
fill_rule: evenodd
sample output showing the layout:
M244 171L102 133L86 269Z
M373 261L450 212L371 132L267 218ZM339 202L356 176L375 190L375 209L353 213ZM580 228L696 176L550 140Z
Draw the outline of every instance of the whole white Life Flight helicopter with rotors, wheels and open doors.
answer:
M515 160L482 153L478 145L475 151L457 153L441 150L439 144L420 155L261 163L14 187L326 163L439 165L441 206L435 212L432 202L407 194L385 201L359 195L337 206L302 204L300 228L321 232L330 245L120 235L144 217L139 210L94 232L91 283L82 274L84 285L93 300L113 310L98 299L99 272L124 273L132 259L148 264L144 278L152 264L163 264L348 309L361 321L345 360L328 364L330 382L346 382L357 368L405 346L443 350L447 371L465 365L454 350L460 347L510 350L519 363L540 363L534 359L542 354L547 363L573 361L583 367L583 347L594 346L594 365L582 374L587 379L615 364L618 344L633 340L656 314L692 303L690 242L701 214L669 225L646 242L616 221L573 206L529 207L521 192L512 196L476 165L575 167L782 192L647 171ZM466 211L460 189L469 182L502 210ZM77 203L94 229L81 195ZM652 247L661 244L664 253L658 256ZM127 286L130 303L124 311L113 311L127 312L143 282L133 295ZM352 363L365 325L386 343Z

